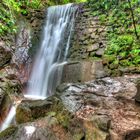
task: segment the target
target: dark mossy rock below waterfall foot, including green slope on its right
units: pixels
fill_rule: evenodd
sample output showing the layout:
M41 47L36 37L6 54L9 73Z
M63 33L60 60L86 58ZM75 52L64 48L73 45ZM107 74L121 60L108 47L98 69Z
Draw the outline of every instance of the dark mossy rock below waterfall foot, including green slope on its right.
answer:
M50 115L53 115L63 126L68 125L70 113L56 97L49 97L43 101L22 101L16 110L16 121L20 124Z

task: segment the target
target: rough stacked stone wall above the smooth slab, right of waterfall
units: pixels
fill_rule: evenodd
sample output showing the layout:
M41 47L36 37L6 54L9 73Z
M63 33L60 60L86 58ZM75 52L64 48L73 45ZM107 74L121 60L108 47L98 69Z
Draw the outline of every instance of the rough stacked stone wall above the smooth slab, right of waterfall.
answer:
M100 58L106 48L106 26L93 16L86 4L79 5L74 36L69 51L71 60Z

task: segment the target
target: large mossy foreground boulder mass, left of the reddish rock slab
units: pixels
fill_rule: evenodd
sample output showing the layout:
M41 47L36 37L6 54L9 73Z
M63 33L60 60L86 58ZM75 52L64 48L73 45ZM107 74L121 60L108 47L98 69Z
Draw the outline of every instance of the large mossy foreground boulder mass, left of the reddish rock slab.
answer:
M105 115L96 115L88 120L77 117L57 96L44 101L21 102L16 120L21 124L3 131L1 140L106 140L110 127L110 120Z

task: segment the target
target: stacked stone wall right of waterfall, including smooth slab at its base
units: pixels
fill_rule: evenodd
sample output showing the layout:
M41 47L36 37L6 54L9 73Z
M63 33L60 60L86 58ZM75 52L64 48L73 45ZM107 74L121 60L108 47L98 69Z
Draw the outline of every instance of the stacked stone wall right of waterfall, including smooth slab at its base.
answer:
M84 82L107 76L102 63L106 46L106 26L101 25L86 4L80 4L62 82Z

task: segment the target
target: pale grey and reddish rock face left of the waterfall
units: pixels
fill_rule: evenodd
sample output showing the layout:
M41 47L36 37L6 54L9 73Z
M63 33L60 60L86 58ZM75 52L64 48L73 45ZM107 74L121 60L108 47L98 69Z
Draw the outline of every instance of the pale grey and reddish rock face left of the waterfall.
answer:
M28 54L29 49L31 48L31 31L30 28L26 27L21 23L19 33L16 38L16 48L12 56L12 64L17 71L16 76L23 84L27 82L31 69L31 58Z

